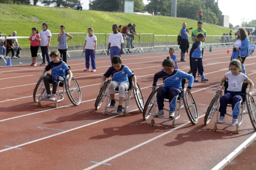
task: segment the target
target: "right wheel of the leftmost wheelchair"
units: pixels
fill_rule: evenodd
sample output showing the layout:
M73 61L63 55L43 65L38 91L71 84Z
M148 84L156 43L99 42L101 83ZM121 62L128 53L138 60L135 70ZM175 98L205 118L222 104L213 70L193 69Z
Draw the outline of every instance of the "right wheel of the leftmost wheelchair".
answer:
M77 80L74 77L72 77L69 87L67 87L68 80L69 75L67 75L65 79L65 89L67 92L67 97L69 97L69 100L70 102L72 102L73 105L78 106L82 100L82 94L79 84L77 83Z

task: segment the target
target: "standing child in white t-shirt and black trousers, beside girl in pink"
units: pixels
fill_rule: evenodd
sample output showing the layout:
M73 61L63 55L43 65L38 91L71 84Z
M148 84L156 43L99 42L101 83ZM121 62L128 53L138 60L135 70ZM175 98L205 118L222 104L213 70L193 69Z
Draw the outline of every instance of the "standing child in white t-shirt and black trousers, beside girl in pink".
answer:
M48 30L48 24L43 23L43 30L40 31L40 48L42 52L43 62L40 65L46 65L45 57L49 63L49 43L51 42L51 31Z

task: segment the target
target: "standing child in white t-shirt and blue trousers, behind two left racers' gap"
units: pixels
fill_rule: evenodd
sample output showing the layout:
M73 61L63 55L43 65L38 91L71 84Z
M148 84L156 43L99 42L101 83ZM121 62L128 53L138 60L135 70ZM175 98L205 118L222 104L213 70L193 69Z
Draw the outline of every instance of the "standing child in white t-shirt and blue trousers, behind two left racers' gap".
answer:
M87 29L88 36L85 38L85 45L83 46L83 53L85 53L85 67L86 69L83 71L90 71L90 57L92 60L92 72L96 71L96 64L95 64L95 53L96 53L96 46L97 46L97 38L93 35L93 28L89 27Z

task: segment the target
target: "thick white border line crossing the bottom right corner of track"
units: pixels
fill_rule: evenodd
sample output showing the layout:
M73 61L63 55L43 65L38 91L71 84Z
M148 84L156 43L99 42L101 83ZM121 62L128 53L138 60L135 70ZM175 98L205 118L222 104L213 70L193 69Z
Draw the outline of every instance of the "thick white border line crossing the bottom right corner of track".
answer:
M211 170L218 170L226 166L231 160L233 160L234 157L236 157L239 153L242 152L251 142L253 142L256 138L256 132L249 137L249 139L245 140L244 143L242 143L239 147L237 147L233 152L231 152L224 160L222 160L220 163L218 163L213 169Z

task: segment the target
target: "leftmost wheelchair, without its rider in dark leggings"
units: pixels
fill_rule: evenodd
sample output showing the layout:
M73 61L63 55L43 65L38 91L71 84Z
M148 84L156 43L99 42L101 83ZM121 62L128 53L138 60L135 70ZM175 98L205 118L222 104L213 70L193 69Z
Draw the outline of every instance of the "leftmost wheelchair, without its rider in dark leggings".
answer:
M50 74L47 73L45 76L49 76ZM67 87L67 82L69 81L69 74L66 73L66 77L64 80L58 79L57 83L57 91L56 91L56 100L55 102L55 108L58 107L58 102L61 102L64 100L65 92L67 93L67 97L69 97L70 102L72 102L73 105L77 106L80 104L82 100L82 94L79 87L79 84L77 83L77 80L72 77L69 87ZM62 87L62 88L61 88ZM53 84L50 84L50 89L52 91ZM62 89L62 90L61 90ZM34 92L33 92L33 100L35 103L38 103L38 106L41 105L41 97L47 95L45 83L43 81L43 77L41 77L38 81L38 83L35 86Z

